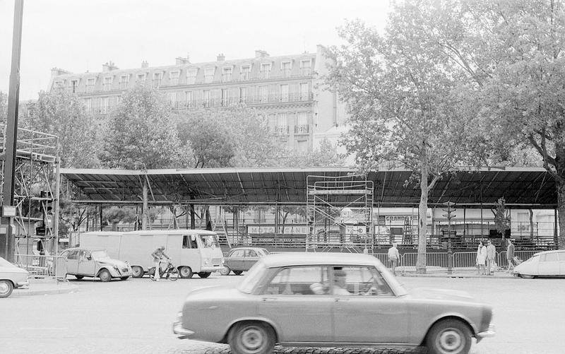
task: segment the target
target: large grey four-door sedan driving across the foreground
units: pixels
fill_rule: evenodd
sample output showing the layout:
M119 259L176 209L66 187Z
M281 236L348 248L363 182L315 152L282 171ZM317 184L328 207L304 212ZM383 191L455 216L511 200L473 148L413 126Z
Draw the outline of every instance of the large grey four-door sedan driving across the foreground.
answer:
M234 354L281 346L427 346L468 353L494 335L492 307L455 290L412 293L374 256L270 254L237 287L194 290L177 314L179 338L229 343Z

